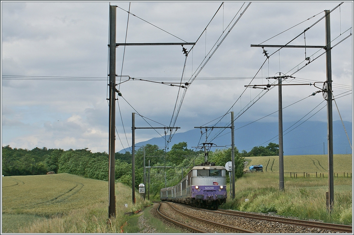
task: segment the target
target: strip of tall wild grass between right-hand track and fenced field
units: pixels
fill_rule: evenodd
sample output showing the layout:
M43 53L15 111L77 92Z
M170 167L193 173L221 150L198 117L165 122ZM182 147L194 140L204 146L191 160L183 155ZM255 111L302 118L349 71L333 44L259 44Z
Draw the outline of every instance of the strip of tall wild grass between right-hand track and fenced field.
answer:
M335 178L334 207L328 213L328 178L285 177L285 189L279 190L279 174L255 172L236 181L235 199L228 198L224 208L263 212L299 219L320 219L328 223L352 224L352 180ZM247 202L245 199L249 199Z

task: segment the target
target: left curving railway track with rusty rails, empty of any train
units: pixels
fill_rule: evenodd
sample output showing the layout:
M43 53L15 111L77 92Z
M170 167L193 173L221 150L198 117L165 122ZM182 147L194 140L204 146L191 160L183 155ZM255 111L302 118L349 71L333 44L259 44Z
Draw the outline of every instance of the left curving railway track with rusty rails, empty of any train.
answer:
M160 203L160 205L157 208L157 212L161 217L167 219L168 221L177 225L178 227L183 228L183 229L187 229L188 231L192 231L193 233L210 233L211 232L210 228L218 228L217 231L212 231L213 233L220 233L220 232L221 233L256 233L254 231L250 231L247 229L232 227L230 225L226 225L226 224L222 224L222 223L218 223L218 222L210 221L210 220L203 219L200 217L189 215L187 213L179 211L177 208L175 208L169 202L158 202L158 203ZM189 220L185 221L185 219L180 219L180 221L176 221L175 219L172 219L169 216L164 215L160 211L161 204L167 204L169 207L171 207L173 209L173 211L177 212L178 214L188 217L190 219L193 219L195 221L198 221L198 223L193 223L194 224L193 226L199 227L199 228L202 227L202 228L204 228L204 230L188 225L188 224L192 224ZM181 220L184 222L181 222ZM188 223L188 224L186 224L186 223ZM206 226L203 226L203 224L206 224ZM196 225L198 225L198 226L196 226Z

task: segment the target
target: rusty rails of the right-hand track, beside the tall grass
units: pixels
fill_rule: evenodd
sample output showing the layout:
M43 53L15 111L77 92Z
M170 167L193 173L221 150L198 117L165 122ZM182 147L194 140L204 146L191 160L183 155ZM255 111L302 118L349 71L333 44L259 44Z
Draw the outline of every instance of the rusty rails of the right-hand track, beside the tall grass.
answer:
M199 209L199 210L205 210L205 209ZM230 211L230 210L223 210L223 209L218 209L217 211L209 211L209 212L223 213L226 215L236 215L236 216L242 216L242 217L253 218L253 219L263 219L267 221L281 222L284 224L295 224L307 228L321 228L321 229L327 229L332 231L352 233L352 226L344 225L344 224L331 224L331 223L316 222L316 221L306 221L301 219L283 218L277 216L257 215L253 213Z

